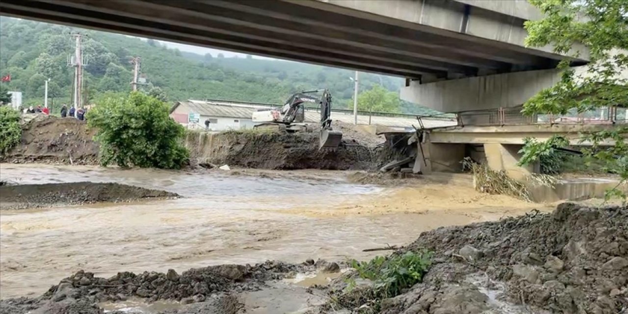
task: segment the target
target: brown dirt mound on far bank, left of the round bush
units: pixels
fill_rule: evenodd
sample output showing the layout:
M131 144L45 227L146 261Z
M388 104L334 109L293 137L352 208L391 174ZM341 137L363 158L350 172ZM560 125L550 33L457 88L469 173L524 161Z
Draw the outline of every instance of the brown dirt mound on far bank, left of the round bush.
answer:
M21 142L2 158L8 163L97 165L95 131L72 118L36 116L22 126Z

